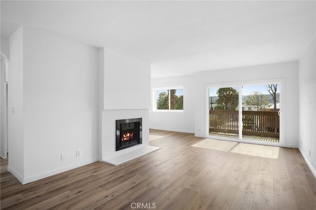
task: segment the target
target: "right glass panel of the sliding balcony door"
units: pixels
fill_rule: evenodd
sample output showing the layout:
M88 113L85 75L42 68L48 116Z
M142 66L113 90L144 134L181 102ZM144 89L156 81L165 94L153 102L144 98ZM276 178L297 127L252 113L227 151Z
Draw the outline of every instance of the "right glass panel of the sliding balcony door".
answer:
M242 139L279 142L279 84L242 87Z

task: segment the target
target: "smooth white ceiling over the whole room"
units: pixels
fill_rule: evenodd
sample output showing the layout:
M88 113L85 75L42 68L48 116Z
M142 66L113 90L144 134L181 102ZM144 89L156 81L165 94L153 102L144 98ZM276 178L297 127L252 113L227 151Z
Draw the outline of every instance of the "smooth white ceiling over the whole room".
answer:
M0 1L1 35L34 27L152 64L152 77L298 60L316 1Z

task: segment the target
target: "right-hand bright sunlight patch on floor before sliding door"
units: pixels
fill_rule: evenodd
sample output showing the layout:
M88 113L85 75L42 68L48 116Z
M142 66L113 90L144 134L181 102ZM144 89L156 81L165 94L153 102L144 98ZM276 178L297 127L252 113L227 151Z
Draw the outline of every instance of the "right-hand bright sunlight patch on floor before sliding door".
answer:
M249 143L239 143L231 152L259 156L265 158L278 158L279 147L277 146L265 146Z

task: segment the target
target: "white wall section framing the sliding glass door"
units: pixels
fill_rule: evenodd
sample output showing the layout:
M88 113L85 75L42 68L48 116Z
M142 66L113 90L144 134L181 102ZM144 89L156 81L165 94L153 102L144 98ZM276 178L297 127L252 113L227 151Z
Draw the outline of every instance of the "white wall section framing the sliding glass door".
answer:
M207 135L207 85L244 84L263 80L284 80L282 87L285 118L285 137L283 146L298 146L298 62L287 62L262 66L244 67L227 70L212 70L196 73L195 77L195 134L198 137Z

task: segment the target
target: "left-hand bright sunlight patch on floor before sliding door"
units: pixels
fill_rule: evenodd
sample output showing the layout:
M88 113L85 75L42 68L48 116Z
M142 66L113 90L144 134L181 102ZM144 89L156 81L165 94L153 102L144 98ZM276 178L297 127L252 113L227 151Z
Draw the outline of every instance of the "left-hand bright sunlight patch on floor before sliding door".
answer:
M193 144L192 146L206 148L206 149L215 149L215 150L227 152L236 144L237 142L233 142L233 141L205 139L205 140L201 140L200 142L196 144Z

